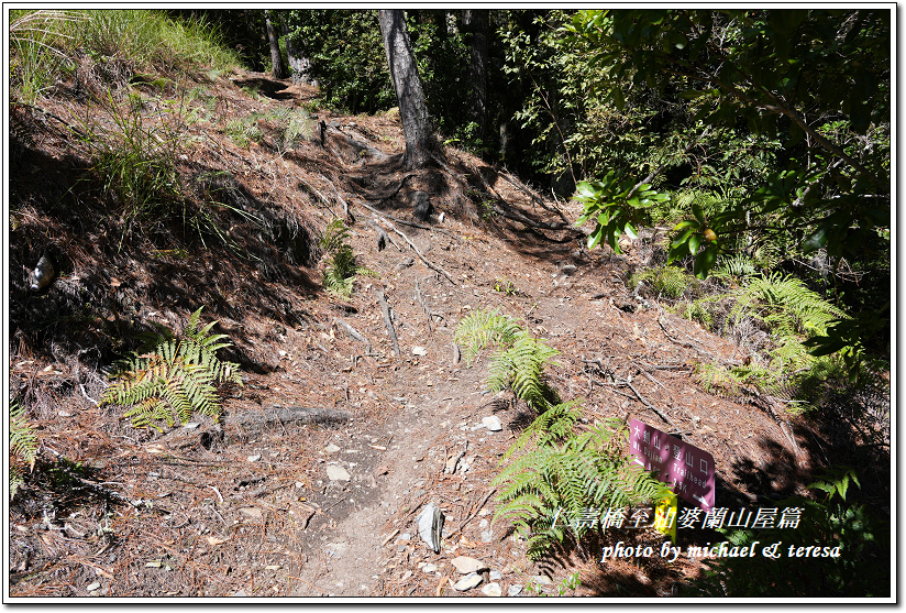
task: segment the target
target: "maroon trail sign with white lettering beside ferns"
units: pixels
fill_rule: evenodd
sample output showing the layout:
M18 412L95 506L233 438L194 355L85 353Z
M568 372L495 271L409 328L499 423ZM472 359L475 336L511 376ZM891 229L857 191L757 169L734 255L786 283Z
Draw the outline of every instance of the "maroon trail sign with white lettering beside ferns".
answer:
M677 496L714 507L714 456L638 419L629 420L629 449L637 464L672 484Z

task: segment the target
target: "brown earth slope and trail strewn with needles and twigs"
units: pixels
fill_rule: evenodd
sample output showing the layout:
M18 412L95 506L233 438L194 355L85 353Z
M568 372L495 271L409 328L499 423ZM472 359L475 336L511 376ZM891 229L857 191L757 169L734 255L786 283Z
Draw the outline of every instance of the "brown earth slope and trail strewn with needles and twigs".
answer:
M589 252L568 227L575 202L541 197L456 150L444 167L406 178L393 116L316 110L323 146L316 132L287 146L262 119L262 136L240 146L223 133L231 119L312 108L317 92L244 73L189 85L207 98L188 102L201 119L180 127L180 174L196 196L207 189L270 220L263 234L218 209L233 251L216 241L203 249L166 225L135 236L98 221L98 186L70 131L85 117L111 125L89 94L69 84L40 108L11 110L10 392L42 445L10 508L11 595L483 595L451 588L460 555L483 560L485 584L493 572L504 594L512 585L535 593L540 574L552 581L537 592L556 594L576 571L582 583L568 595L678 593L696 562L601 563L599 551L581 550L533 563L506 525L490 525L491 480L530 417L510 396L484 391L487 355L469 368L458 359L453 331L475 309L500 309L560 351L551 381L562 397L585 398L587 423L638 418L710 451L718 505L805 493L831 453L859 461L850 426L819 427L771 398L703 390L696 364L748 353L627 289L628 273L653 254L650 232L626 255ZM263 95L250 95L255 85ZM156 109L144 120L168 121ZM423 228L411 225L415 189L435 209ZM338 216L358 263L376 273L360 275L347 300L320 283L317 238ZM377 226L393 239L383 251ZM62 270L48 292L32 294L27 273L48 247ZM225 390L222 428L198 419L159 435L132 428L121 407L97 405L101 368L133 349L137 332L154 322L181 329L199 306L244 371L245 385ZM275 407L320 408L322 418L267 422ZM502 431L482 426L489 415ZM453 473L444 471L451 458ZM349 480L331 480L328 467ZM415 524L429 502L446 516L440 554ZM661 540L632 529L608 539Z

